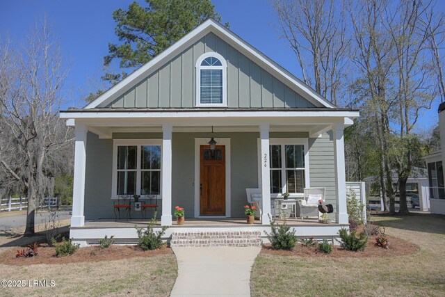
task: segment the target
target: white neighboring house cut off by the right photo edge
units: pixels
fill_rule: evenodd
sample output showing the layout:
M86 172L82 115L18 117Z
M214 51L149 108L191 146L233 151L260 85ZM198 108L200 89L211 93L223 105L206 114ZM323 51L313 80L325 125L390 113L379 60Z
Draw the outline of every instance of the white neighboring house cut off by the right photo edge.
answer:
M445 103L439 105L440 144L445 147ZM428 168L430 186L431 214L445 214L444 169L445 154L442 150L426 156L424 159Z

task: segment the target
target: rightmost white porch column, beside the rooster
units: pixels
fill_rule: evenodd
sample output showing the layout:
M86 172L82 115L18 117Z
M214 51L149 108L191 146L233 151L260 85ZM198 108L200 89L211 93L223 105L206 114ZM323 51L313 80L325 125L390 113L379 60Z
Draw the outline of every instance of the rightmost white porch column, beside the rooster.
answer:
M339 224L348 223L348 211L346 210L345 145L343 141L343 129L343 123L332 125L334 138L335 199L337 202L335 217Z

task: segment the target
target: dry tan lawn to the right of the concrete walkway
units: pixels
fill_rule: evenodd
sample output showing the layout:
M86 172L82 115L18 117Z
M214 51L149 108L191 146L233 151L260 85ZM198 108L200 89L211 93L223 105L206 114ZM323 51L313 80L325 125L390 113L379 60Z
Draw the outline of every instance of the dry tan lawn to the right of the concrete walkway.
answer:
M261 253L252 268L252 296L444 296L445 216L371 219L420 251L359 258Z

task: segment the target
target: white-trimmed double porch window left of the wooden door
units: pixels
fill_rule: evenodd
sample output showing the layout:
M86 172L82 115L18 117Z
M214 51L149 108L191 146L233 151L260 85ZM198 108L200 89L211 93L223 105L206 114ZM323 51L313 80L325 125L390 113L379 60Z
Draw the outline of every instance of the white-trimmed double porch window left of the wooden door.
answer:
M115 140L113 198L118 195L161 196L161 140Z

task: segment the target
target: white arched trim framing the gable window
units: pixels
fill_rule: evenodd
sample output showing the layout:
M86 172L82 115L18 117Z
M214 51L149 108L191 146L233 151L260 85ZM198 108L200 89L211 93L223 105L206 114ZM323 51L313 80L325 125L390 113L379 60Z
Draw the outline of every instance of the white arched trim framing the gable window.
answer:
M201 66L202 61L209 57L217 58L222 66ZM196 64L196 106L197 107L227 107L227 61L220 54L209 51L197 58ZM201 103L201 70L202 69L221 69L223 70L223 103Z

